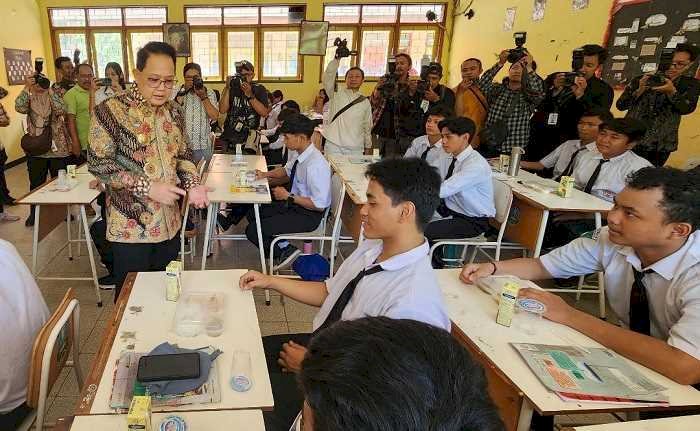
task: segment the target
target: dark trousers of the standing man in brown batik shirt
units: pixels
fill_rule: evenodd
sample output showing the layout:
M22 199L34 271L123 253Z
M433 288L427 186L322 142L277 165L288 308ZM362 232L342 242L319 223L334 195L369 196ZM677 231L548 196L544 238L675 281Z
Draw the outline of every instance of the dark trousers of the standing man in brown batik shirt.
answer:
M130 272L165 271L180 253L180 232L172 239L155 244L112 243L114 255L114 302L117 302L124 279Z

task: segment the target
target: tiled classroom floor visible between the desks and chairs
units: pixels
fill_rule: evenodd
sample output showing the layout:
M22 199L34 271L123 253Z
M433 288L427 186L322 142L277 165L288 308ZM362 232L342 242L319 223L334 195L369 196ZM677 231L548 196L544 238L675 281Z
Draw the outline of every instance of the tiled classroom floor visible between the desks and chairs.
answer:
M29 190L26 166L24 164L13 167L6 172L8 187L15 198L23 196ZM32 229L24 226L24 219L29 213L28 206L5 207L5 211L21 216L22 219L14 223L0 223L0 238L12 242L17 247L19 253L25 259L27 265L31 265L31 241ZM240 229L243 226L239 227ZM39 268L46 266L50 257L56 254L57 249L63 244L66 238L65 225L59 226L44 239L39 247ZM201 244L201 239L199 244ZM343 252L347 255L351 249L343 246ZM90 272L89 262L86 256L85 247L82 248L82 255L73 261L68 260L67 250L63 250L52 261L52 265L46 274L52 275L75 275ZM187 257L189 259L189 257ZM196 259L194 267L199 267L199 260ZM190 265L190 262L187 262ZM258 268L259 260L257 249L252 245L239 241L223 241L215 243L214 255L207 261L208 269L228 269L228 268ZM192 266L190 266L192 267ZM105 270L98 266L98 275L105 275ZM63 298L65 291L72 287L80 300L80 366L85 374L92 367L95 353L101 343L102 334L106 327L106 319L111 316L112 293L103 292L104 307L98 308L95 303L95 294L91 283L88 281L44 281L39 282L39 287L44 294L44 298L49 308L53 310ZM571 297L567 298L572 301ZM255 293L256 309L258 320L263 335L284 334L295 332L310 332L311 321L316 313L314 307L300 304L296 301L286 299L284 303L279 296L273 294L272 304L266 306L264 293ZM578 304L591 312L597 310L596 301L592 296L584 295ZM78 385L74 375L69 370L64 370L51 393L49 394L48 422L54 422L56 418L71 415L78 401ZM614 421L611 415L586 415L586 416L562 416L557 418L557 423L561 425L581 424L581 423L604 423Z

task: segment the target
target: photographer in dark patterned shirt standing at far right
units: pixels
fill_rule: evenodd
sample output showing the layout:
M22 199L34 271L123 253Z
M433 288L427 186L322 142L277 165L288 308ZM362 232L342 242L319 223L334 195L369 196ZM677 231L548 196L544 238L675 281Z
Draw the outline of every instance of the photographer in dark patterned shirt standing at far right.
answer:
M617 100L617 109L647 125L633 151L655 166L663 166L678 148L681 116L695 111L700 93L700 81L690 75L698 48L681 43L668 54L659 62L659 72L634 78Z

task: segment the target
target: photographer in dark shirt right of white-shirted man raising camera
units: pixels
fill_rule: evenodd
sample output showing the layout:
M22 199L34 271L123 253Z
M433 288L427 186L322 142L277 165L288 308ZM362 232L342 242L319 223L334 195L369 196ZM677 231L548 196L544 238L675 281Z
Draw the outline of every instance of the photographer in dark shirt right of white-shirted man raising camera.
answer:
M418 92L420 78L409 79L411 64L410 55L396 54L370 96L372 133L378 136L383 157L402 156L413 139L423 134L423 95Z

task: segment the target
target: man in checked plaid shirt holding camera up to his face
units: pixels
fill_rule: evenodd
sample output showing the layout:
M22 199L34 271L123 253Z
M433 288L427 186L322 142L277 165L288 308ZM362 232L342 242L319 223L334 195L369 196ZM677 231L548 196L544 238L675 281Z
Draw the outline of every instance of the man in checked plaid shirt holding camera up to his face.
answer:
M513 147L527 146L530 139L530 117L544 98L544 82L532 69L533 58L530 53L510 66L508 77L502 84L494 82L507 59L506 49L499 55L498 63L479 79L479 88L489 102L485 127L500 120L505 120L508 127L508 137L494 149L500 153L510 153Z

